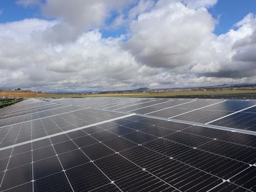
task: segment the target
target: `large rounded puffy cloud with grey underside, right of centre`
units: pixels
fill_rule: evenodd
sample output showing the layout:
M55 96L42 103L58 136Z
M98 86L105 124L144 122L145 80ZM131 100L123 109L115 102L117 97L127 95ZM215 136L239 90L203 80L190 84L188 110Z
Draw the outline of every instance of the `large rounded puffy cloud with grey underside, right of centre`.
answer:
M213 38L214 27L205 8L194 10L181 2L160 1L131 23L126 46L146 65L174 69L190 63L198 49Z

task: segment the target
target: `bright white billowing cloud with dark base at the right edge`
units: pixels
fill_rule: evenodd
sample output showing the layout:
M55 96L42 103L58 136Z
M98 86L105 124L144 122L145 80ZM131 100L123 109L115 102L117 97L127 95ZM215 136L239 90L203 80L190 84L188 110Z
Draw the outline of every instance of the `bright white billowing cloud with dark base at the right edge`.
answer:
M230 30L211 43L216 52L217 70L211 70L205 64L205 75L237 79L254 77L256 80L256 59L253 54L256 51L256 19L251 18L247 20L245 17L237 30Z

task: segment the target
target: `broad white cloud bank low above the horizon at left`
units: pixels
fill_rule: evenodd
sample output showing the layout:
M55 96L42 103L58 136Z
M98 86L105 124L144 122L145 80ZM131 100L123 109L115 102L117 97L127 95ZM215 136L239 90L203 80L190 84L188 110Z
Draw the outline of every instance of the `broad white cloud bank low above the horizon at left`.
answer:
M16 25L24 28L17 30ZM72 44L49 45L38 37L52 25L37 19L0 25L0 42L5 44L0 48L2 87L116 90L158 73L121 49L121 39L102 38L98 30L83 33Z

